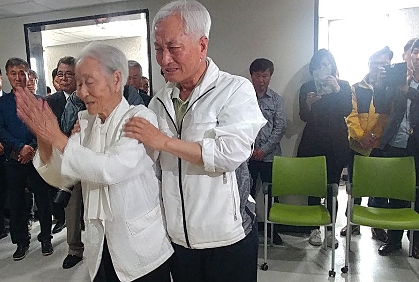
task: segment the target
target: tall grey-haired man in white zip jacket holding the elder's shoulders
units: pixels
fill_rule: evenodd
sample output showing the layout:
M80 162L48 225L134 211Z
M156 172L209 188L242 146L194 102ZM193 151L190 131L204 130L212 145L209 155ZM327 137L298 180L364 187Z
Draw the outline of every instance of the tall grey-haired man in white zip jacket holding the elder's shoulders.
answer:
M153 22L156 59L168 80L126 136L161 151L161 181L175 282L254 282L258 236L246 161L266 123L245 78L206 57L211 18L196 1L175 1Z

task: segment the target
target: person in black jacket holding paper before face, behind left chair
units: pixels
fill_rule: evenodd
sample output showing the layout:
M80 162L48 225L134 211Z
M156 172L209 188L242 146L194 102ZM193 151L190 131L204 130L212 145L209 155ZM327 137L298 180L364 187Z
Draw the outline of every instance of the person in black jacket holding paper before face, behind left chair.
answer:
M347 81L337 78L336 62L329 50L321 49L312 56L309 71L313 80L304 83L299 93L299 116L306 125L297 157L326 156L328 183L339 185L342 170L349 160L345 117L352 111L351 87ZM332 191L328 191L328 198L332 199ZM320 198L308 198L308 205L317 204ZM328 209L331 212L332 200L328 201ZM332 247L332 236L330 230L325 236L329 247ZM309 243L322 245L319 227L311 231ZM335 239L335 248L338 245Z

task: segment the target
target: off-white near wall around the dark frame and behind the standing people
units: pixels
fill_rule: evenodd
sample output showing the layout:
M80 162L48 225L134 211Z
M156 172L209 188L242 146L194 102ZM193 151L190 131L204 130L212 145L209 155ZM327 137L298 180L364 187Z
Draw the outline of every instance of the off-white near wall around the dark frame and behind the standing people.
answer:
M4 68L12 56L26 58L23 24L145 8L149 9L152 21L166 2L137 0L0 20L0 66ZM201 0L201 3L213 20L208 55L221 69L249 78L249 65L255 58L266 57L274 62L271 88L284 97L289 119L281 144L284 155L292 155L303 126L298 117L297 95L301 84L308 79L307 63L313 51L314 0ZM155 59L152 61L156 90L164 82ZM9 89L5 82L5 90Z

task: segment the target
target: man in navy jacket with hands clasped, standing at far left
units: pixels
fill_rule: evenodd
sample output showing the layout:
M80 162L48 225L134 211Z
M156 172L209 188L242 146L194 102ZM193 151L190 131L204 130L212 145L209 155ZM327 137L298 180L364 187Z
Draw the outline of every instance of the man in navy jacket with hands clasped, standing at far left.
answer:
M48 184L41 178L32 164L37 147L36 138L29 128L19 119L16 109L15 91L27 86L29 65L21 58L11 58L6 63L6 75L12 92L0 98L0 142L5 148L4 168L10 199L10 234L12 243L17 244L14 260L24 259L29 250L25 188L33 191L38 207L43 255L50 255L51 245L51 208L48 202ZM28 181L29 180L29 181Z

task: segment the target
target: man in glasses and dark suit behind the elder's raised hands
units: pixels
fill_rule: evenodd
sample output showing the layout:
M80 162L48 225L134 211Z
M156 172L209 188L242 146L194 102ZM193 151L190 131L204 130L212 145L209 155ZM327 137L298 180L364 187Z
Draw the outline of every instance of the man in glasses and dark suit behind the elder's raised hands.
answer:
M76 90L76 80L74 77L76 62L76 59L71 56L63 57L58 61L57 77L59 78L61 90L45 98L58 120L61 120L67 100L69 100L70 95ZM56 188L53 189L54 192L58 191ZM53 203L53 205L56 204ZM81 242L80 223L81 209L81 187L80 185L76 185L73 187L70 200L65 207L65 221L64 210L62 210L63 218L62 220L58 219L52 231L52 233L57 233L64 227L67 227L68 255L63 261L63 268L71 268L83 258L84 245Z

